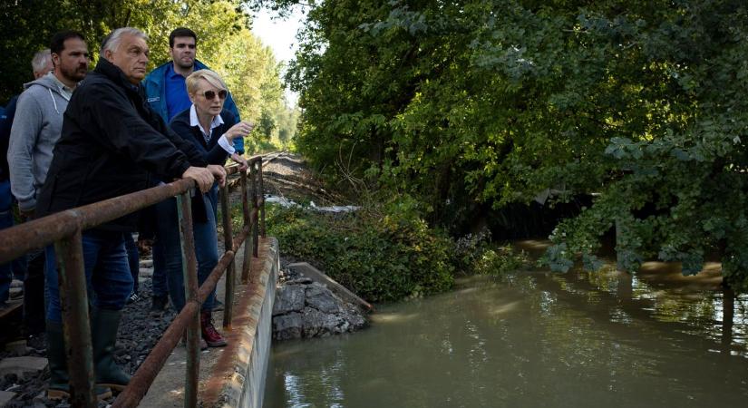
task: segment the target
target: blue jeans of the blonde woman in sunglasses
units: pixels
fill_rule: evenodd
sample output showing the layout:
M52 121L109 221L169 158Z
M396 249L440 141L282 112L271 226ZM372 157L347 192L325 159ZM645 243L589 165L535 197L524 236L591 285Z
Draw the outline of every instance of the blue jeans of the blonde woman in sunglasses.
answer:
M205 200L207 222L192 222L192 233L195 238L195 256L198 261L198 283L202 285L210 272L219 263L218 232L216 231L216 218L211 210L210 199L207 194L202 195ZM165 199L156 204L158 214L156 226L156 242L153 245L153 274L157 267L163 267L168 281L169 296L174 309L180 311L185 304L184 297L184 275L182 273L182 256L180 241L180 223L177 217L177 199ZM193 217L194 219L194 217ZM157 262L157 250L160 252L160 260ZM160 265L162 264L162 265ZM202 310L212 310L216 298L216 290L213 289L205 302Z

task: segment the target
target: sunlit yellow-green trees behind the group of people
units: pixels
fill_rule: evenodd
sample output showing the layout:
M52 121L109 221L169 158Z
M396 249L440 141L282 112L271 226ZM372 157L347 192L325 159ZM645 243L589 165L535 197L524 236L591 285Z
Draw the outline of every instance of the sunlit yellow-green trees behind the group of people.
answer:
M31 58L47 48L53 33L81 31L96 60L104 35L121 26L149 35L149 69L169 60L169 34L179 26L199 37L198 59L227 81L239 112L259 126L249 151L268 142L286 145L296 131L295 113L282 92L280 66L272 51L250 33L251 18L238 0L11 0L0 3L0 102L33 79Z

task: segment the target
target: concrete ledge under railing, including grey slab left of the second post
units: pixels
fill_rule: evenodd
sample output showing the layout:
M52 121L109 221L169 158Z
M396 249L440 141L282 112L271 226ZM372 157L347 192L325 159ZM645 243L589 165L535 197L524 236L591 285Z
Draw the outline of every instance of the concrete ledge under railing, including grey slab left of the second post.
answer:
M251 245L251 238L245 244ZM241 275L243 254L244 251L240 248L235 258L237 279ZM257 255L251 260L248 285L235 287L232 327L222 327L223 312L213 314L215 325L226 337L228 345L209 348L200 353L198 399L202 407L259 407L262 404L279 270L277 239L260 238ZM216 289L221 300L224 296L225 277L221 278ZM267 313L267 317L264 313ZM177 346L140 406L184 406L186 363L185 347ZM242 403L248 397L257 399L256 403Z

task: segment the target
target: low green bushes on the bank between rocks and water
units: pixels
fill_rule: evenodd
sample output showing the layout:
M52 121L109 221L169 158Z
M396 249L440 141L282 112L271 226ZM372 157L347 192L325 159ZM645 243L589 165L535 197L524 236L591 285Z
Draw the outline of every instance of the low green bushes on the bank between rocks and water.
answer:
M418 219L268 206L267 226L286 256L311 261L372 302L452 287L452 241Z

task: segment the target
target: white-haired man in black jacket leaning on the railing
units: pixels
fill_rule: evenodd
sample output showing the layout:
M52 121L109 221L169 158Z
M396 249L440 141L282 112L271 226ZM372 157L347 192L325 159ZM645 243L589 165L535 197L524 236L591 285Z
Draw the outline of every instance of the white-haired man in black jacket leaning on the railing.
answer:
M157 179L193 179L203 192L210 189L214 176L225 180L222 167L209 165L145 101L140 82L148 63L146 40L145 34L130 27L104 39L99 63L65 111L63 134L37 203L40 216L146 189ZM83 231L83 263L94 292L89 299L96 383L113 390L123 389L130 380L114 363L113 350L121 309L132 289L123 234L131 233L136 222L137 215L131 214ZM46 253L52 374L48 396L61 398L69 389L62 316L53 248Z

